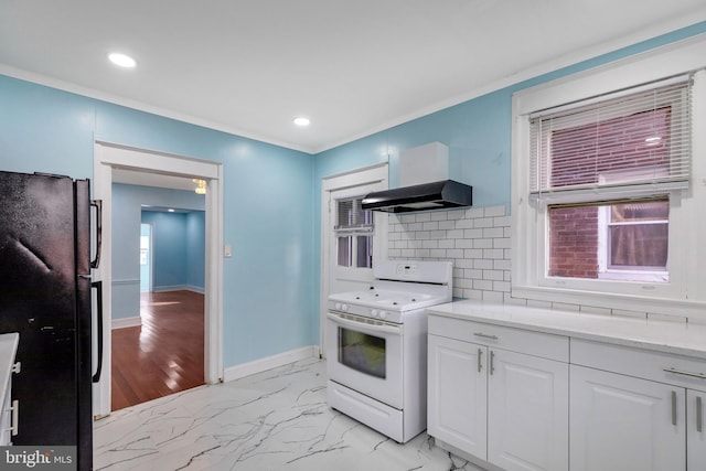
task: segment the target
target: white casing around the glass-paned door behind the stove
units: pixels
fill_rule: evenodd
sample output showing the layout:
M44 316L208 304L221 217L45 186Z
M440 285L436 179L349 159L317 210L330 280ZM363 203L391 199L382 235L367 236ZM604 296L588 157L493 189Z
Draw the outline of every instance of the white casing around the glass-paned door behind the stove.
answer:
M331 240L329 233L331 225L331 193L346 188L362 186L373 183L381 183L384 189L388 186L388 164L387 162L376 165L365 167L352 170L350 172L339 173L335 175L324 176L321 179L321 280L320 280L320 299L319 299L319 355L323 356L325 352L325 315L327 299L330 289L331 276ZM385 223L387 220L384 220ZM379 254L383 259L387 258L387 227L382 231L385 236L375 240L379 244Z

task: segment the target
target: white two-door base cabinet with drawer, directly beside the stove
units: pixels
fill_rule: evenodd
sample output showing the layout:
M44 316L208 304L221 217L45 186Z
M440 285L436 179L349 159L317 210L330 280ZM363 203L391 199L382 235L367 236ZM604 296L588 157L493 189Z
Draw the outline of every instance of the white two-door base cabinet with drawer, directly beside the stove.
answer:
M566 470L567 339L430 315L428 347L439 446L507 471Z

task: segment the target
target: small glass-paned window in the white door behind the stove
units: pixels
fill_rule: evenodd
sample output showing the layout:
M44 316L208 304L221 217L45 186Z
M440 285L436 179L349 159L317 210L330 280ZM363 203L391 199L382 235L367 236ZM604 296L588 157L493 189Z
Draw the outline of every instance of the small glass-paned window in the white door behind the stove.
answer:
M373 267L373 212L361 207L362 200L363 196L335 201L340 267Z

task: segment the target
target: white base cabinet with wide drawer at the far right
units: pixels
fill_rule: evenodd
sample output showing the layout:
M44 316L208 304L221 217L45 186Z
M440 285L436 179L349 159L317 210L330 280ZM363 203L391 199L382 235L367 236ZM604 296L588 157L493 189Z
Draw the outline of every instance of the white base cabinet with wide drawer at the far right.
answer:
M705 362L571 339L571 471L706 471Z

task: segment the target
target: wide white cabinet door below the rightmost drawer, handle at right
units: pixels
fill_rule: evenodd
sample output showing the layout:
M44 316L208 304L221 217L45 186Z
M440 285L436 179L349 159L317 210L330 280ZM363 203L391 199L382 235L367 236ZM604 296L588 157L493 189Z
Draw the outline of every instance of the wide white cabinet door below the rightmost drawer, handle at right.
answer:
M684 471L686 390L570 366L571 471Z

